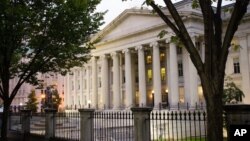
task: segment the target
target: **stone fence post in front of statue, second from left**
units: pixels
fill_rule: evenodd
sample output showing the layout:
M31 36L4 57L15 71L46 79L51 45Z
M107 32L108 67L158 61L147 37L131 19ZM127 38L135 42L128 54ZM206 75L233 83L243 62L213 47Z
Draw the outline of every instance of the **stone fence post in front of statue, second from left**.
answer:
M46 108L45 110L45 138L49 140L55 137L56 128L56 109Z

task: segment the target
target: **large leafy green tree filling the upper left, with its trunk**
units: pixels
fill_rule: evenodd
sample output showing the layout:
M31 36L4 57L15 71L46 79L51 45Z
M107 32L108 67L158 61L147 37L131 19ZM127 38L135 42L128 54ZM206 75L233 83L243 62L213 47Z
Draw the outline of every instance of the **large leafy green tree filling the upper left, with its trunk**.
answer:
M103 24L100 0L1 0L0 98L4 102L2 140L7 140L9 107L23 83L37 74L66 74L89 58L90 36ZM9 81L18 77L13 90Z

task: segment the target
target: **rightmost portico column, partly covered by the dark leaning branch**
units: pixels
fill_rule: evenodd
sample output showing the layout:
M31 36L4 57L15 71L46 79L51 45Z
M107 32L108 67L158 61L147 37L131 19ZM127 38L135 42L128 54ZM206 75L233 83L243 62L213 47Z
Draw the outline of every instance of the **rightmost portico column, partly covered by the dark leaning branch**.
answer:
M192 37L195 44L195 37ZM196 68L191 61L190 54L183 49L183 70L184 71L184 91L185 103L188 103L191 109L196 107L198 102L198 75Z

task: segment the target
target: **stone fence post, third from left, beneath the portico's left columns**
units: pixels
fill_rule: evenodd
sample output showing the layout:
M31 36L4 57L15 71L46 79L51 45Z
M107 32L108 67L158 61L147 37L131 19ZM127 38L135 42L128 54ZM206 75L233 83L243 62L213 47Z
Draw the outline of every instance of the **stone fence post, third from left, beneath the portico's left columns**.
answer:
M79 109L80 112L80 141L93 141L94 109Z

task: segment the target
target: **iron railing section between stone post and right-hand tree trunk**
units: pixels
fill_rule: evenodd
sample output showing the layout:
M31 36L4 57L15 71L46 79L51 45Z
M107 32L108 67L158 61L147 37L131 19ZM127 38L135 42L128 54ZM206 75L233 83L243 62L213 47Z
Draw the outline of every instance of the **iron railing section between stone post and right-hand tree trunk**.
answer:
M205 111L153 111L151 140L206 140Z

